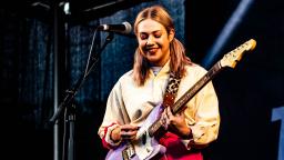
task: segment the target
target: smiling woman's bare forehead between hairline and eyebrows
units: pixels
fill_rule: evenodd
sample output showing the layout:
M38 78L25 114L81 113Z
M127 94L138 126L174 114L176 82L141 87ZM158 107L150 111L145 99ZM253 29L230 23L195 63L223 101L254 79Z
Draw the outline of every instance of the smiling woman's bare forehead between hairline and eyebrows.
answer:
M165 28L152 19L145 19L138 24L138 32L163 31Z

